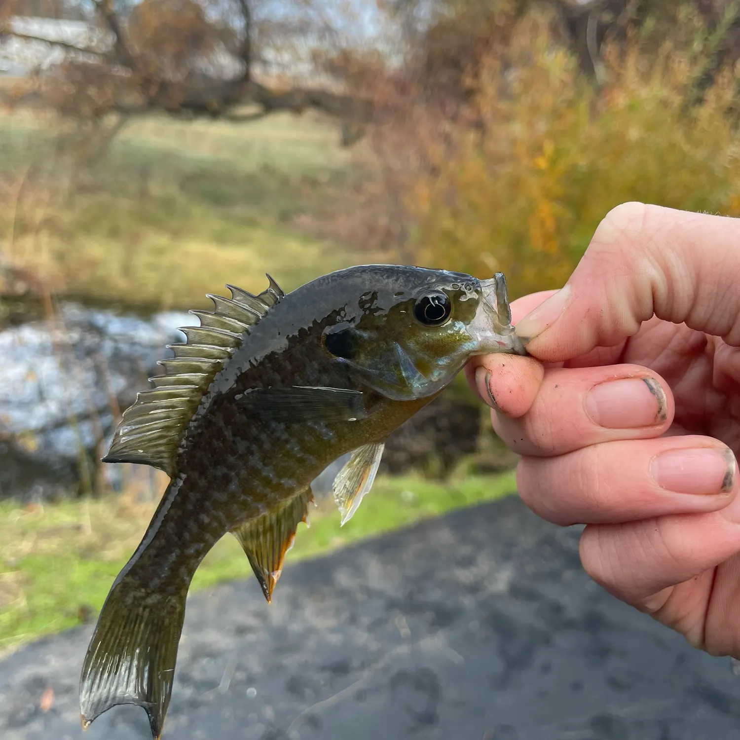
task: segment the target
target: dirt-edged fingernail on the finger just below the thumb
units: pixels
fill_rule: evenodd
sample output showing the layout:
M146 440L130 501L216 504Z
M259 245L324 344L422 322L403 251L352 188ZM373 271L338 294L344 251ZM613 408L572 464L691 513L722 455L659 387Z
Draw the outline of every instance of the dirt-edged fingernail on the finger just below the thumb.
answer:
M608 429L635 429L667 419L665 391L651 377L626 377L599 383L583 405L593 423Z

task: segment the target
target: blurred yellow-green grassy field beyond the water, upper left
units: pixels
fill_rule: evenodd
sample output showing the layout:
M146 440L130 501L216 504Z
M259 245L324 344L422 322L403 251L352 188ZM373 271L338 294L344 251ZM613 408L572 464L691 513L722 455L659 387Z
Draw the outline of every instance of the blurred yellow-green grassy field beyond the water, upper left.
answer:
M368 261L297 227L331 220L356 176L357 155L312 116L142 118L81 168L85 143L53 121L0 116L0 252L59 295L190 308L224 283L263 289L265 272L292 289Z

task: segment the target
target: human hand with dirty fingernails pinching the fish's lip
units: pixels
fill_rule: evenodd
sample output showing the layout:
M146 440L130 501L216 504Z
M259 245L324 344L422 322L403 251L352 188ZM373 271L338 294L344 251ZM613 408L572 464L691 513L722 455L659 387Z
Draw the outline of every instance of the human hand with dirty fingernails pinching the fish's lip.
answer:
M532 357L466 372L522 499L587 525L610 593L740 659L740 221L618 206L565 289L511 310Z

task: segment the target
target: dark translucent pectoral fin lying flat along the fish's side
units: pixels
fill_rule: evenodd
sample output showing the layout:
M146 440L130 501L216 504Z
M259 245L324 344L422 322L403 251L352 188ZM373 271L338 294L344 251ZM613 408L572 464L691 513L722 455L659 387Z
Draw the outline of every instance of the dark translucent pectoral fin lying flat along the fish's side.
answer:
M362 391L324 386L253 388L238 396L237 402L250 414L292 422L356 421L370 413L369 399Z

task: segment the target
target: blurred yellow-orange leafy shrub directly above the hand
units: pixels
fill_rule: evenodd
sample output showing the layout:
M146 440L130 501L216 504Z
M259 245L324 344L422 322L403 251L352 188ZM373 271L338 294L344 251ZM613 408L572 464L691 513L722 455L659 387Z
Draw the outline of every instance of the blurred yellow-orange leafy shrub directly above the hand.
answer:
M470 122L427 148L406 191L418 264L502 270L522 295L561 286L619 203L740 215L735 70L700 98L690 45L633 39L596 87L549 29L522 19L508 58L482 65Z

